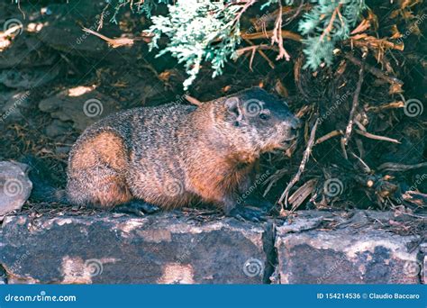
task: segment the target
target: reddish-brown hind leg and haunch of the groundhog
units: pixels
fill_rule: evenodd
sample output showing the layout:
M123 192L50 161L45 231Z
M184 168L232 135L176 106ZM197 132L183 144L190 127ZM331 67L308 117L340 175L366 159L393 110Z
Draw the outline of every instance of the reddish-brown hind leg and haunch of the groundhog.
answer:
M126 184L127 155L112 131L87 136L72 150L68 164L68 201L112 208L132 200Z

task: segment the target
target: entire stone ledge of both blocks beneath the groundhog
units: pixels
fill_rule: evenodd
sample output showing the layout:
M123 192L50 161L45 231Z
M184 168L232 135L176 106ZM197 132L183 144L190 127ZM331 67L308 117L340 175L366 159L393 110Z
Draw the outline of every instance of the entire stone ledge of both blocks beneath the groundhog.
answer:
M420 284L426 242L391 213L303 211L239 222L199 213L144 218L17 215L0 229L5 283Z

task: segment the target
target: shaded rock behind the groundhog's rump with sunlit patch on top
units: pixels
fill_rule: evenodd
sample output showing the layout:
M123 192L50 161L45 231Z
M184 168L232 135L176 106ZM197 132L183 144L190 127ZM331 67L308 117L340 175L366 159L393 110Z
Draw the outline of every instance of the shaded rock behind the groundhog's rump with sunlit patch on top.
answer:
M39 103L41 111L53 118L71 121L78 131L104 116L120 110L120 104L89 86L68 88Z

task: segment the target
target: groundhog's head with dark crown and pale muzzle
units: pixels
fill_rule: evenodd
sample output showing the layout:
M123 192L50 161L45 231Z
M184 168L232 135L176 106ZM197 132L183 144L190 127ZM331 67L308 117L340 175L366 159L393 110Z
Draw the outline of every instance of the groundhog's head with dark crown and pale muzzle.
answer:
M259 87L227 97L224 104L230 140L238 147L244 143L259 152L286 149L301 127L284 100Z

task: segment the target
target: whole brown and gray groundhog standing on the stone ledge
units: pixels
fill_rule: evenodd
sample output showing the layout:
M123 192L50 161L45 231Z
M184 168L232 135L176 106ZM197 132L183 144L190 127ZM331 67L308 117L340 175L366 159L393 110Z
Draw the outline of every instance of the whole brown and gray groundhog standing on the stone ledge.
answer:
M237 200L252 186L260 154L286 149L299 126L283 100L259 87L200 106L115 113L71 149L68 202L111 209L140 200L172 209L198 201L257 220Z

